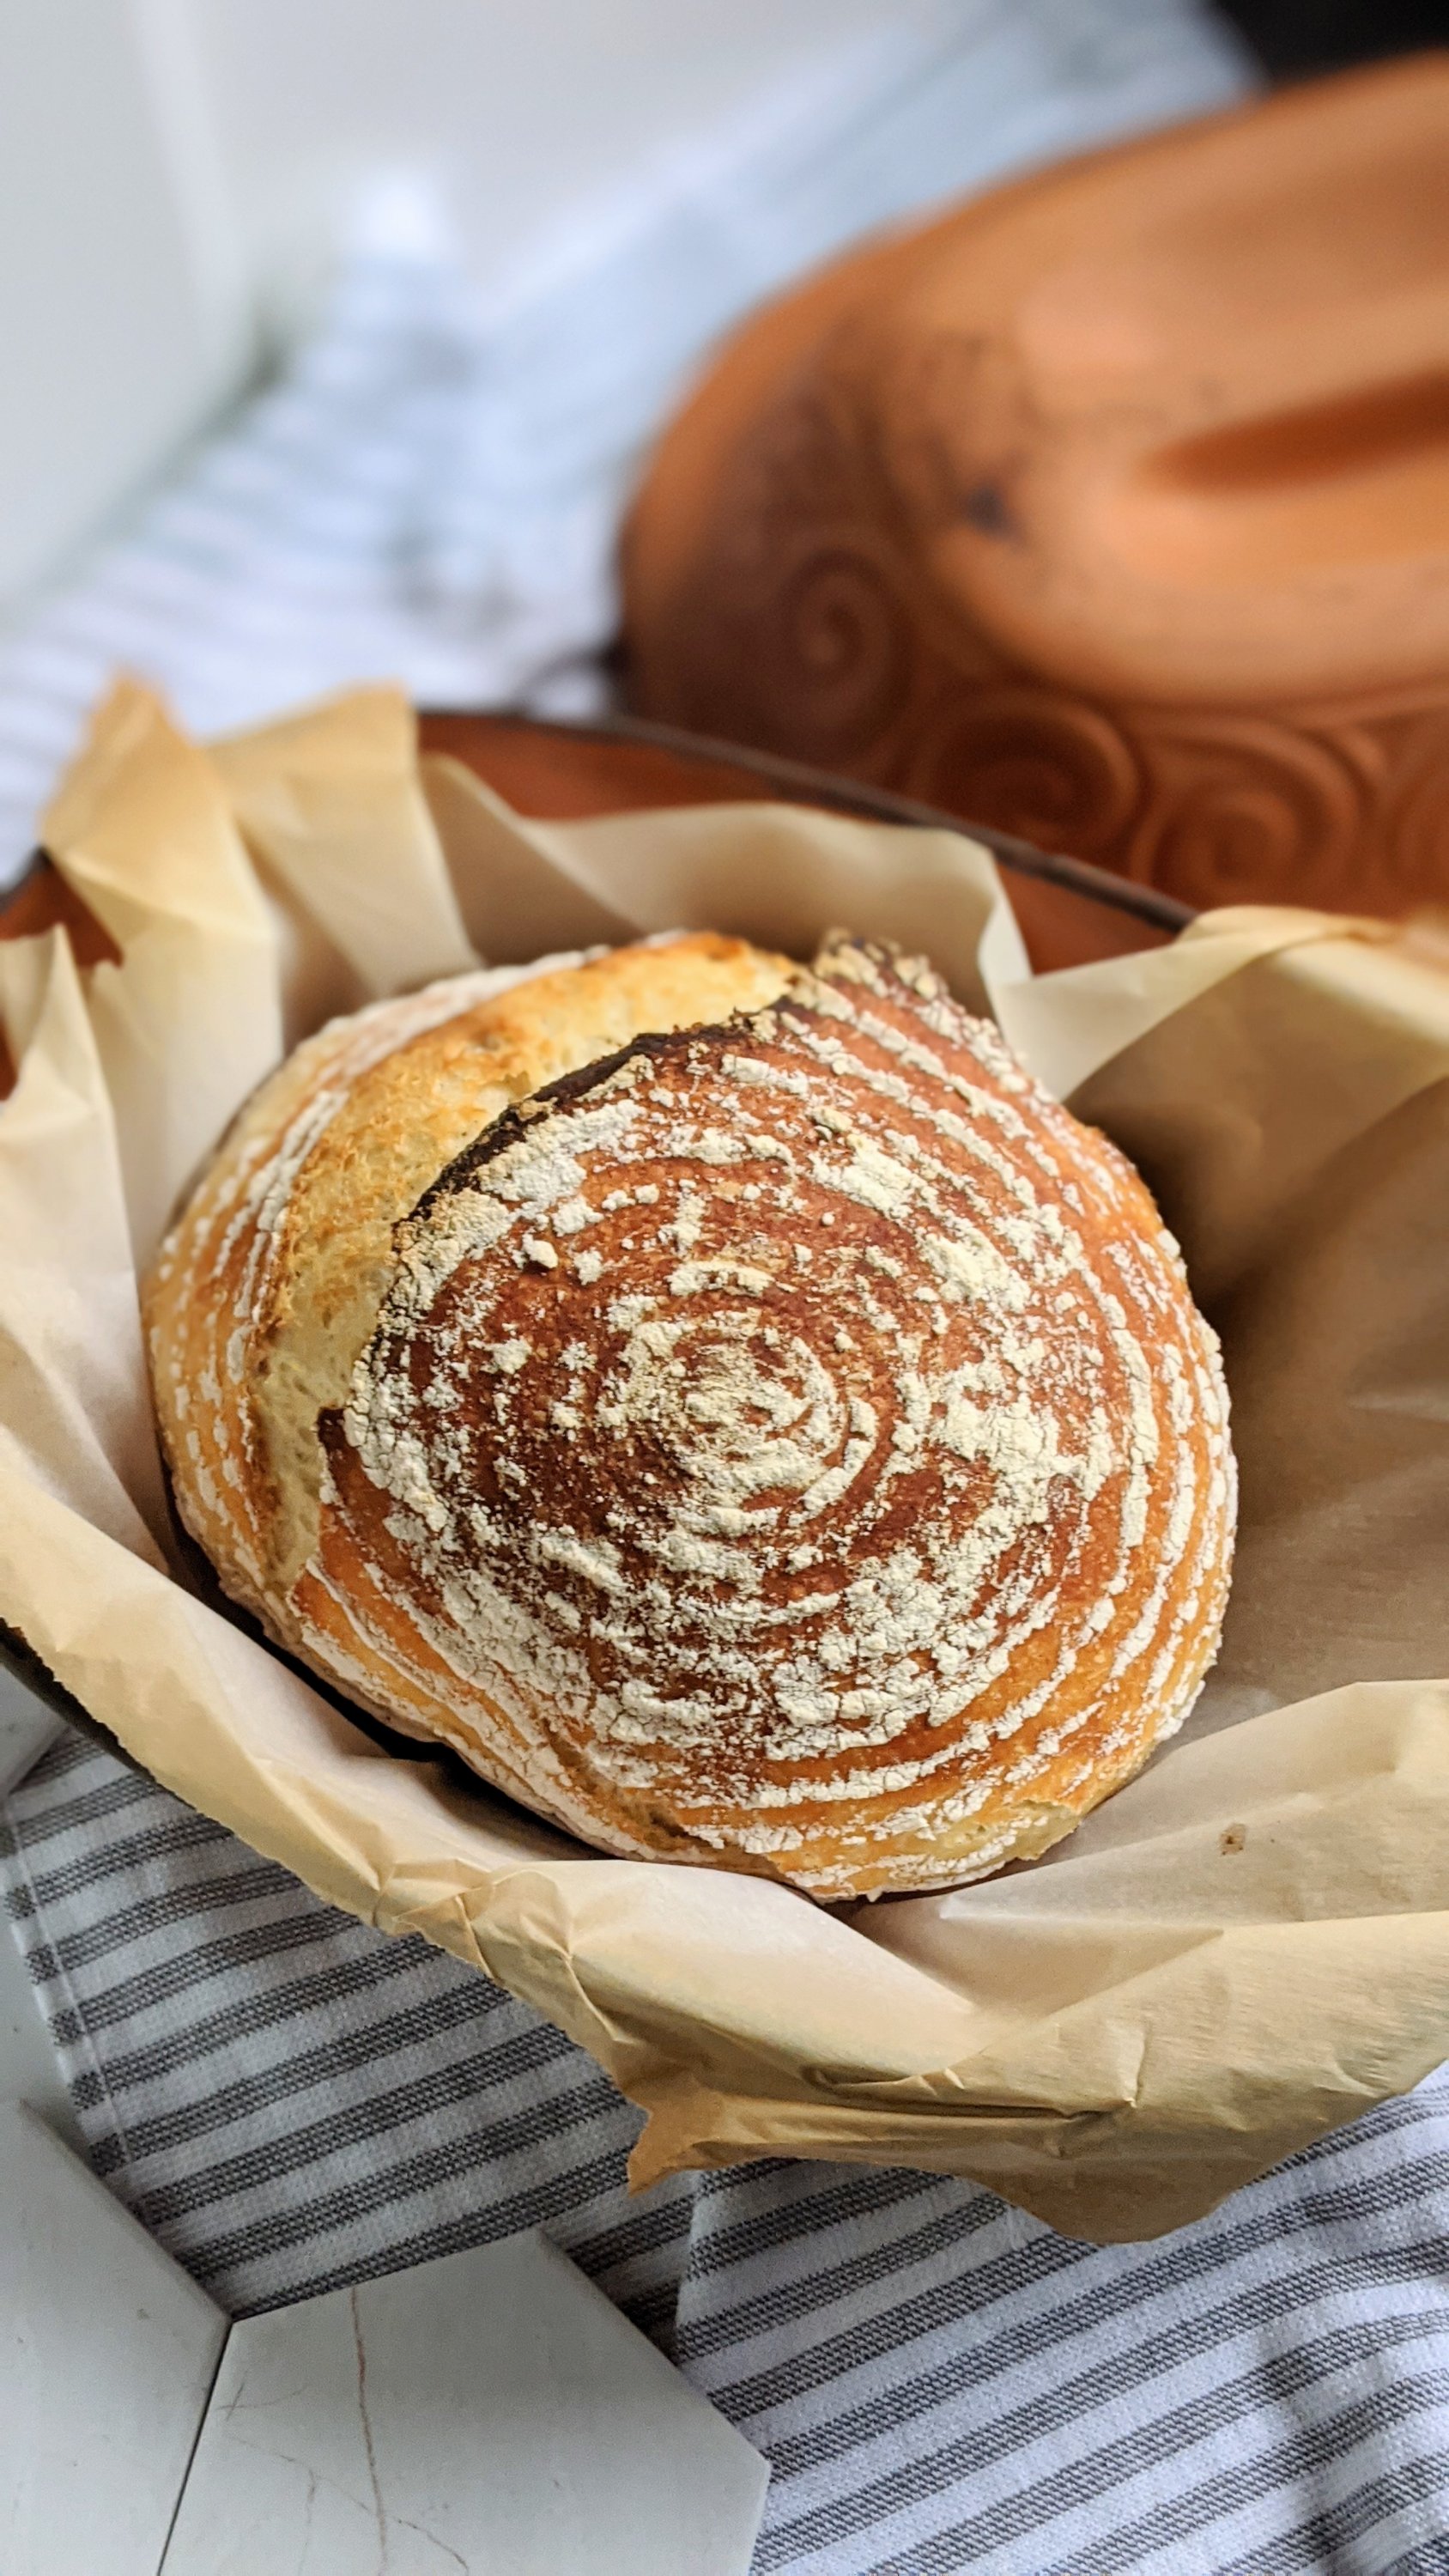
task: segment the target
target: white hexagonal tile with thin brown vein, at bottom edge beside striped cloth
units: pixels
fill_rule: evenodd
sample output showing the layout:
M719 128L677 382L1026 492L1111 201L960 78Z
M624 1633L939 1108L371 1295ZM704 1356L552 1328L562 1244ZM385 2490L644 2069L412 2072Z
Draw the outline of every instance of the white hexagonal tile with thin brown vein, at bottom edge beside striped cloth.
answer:
M764 2483L520 2236L242 2318L165 2576L746 2576Z

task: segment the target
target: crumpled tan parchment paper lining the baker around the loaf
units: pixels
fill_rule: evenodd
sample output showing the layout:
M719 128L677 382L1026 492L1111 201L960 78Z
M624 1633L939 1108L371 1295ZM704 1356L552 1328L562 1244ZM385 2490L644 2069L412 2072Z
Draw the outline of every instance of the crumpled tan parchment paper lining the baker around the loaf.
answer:
M970 2174L1153 2236L1449 2053L1449 979L1225 912L1027 974L983 850L785 806L525 824L365 690L211 755L124 685L46 817L121 948L0 948L0 1618L178 1795L484 1965L646 2107L636 2179ZM134 1260L286 1033L476 956L927 948L1140 1162L1225 1337L1243 1538L1184 1739L1045 1862L824 1911L399 1762L175 1561Z

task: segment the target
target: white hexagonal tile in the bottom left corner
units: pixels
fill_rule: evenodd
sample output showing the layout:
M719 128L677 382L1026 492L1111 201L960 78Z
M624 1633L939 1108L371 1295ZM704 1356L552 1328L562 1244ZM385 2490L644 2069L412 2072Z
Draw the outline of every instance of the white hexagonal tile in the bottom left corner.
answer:
M0 2568L157 2576L226 2318L0 2105Z

